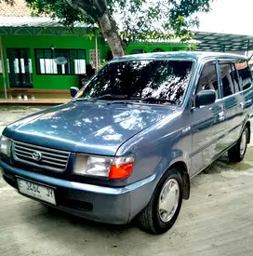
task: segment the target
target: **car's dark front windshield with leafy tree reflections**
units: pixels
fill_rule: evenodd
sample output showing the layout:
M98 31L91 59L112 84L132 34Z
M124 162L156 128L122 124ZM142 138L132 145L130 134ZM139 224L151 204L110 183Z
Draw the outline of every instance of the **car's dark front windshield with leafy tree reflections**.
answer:
M192 61L111 62L75 99L181 104L192 66Z

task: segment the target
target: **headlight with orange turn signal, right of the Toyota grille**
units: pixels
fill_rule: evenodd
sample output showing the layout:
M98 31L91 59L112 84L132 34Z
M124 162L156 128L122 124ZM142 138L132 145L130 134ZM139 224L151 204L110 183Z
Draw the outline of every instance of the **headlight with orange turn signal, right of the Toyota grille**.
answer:
M125 179L130 176L133 164L133 155L124 157L101 157L77 154L75 156L73 173L109 179Z

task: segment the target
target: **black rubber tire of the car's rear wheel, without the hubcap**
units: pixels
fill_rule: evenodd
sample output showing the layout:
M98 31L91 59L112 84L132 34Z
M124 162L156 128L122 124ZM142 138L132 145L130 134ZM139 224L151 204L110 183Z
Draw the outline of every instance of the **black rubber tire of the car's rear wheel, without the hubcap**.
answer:
M247 144L249 130L247 127L245 127L240 139L236 142L236 144L228 152L229 159L233 163L241 162L246 155L246 147L245 147L244 152L241 152L241 150L240 150L240 145L241 145L242 137L244 136L244 132L246 132L246 144Z

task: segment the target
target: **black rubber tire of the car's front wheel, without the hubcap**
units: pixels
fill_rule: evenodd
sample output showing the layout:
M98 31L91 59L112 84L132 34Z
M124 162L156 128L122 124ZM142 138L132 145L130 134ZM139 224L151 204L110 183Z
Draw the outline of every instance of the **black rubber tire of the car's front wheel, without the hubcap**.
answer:
M166 184L166 182L168 182L168 180L171 180L171 179L176 180L180 187L178 207L172 219L170 219L168 222L163 222L159 216L159 196L163 189L163 186ZM181 175L177 169L171 168L166 172L166 174L158 182L149 204L146 206L145 209L143 209L140 212L140 216L138 218L138 223L140 225L140 228L143 231L150 234L154 234L154 235L161 235L166 233L166 231L169 230L178 219L181 203L182 203Z

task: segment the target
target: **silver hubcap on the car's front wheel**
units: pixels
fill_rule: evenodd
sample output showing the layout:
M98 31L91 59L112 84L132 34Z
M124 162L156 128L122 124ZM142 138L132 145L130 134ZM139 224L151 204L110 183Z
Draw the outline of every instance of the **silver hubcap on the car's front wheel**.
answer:
M169 222L174 216L180 200L180 185L175 179L168 180L159 195L159 216Z

